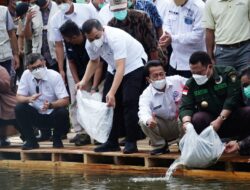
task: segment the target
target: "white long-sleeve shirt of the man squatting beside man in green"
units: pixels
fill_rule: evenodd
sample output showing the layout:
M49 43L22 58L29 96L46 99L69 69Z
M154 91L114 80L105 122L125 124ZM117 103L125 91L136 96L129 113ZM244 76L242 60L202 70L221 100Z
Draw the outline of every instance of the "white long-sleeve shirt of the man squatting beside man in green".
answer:
M187 79L179 75L166 77L165 92L156 90L151 84L143 91L139 100L139 120L146 125L154 113L163 119L177 117L182 89Z

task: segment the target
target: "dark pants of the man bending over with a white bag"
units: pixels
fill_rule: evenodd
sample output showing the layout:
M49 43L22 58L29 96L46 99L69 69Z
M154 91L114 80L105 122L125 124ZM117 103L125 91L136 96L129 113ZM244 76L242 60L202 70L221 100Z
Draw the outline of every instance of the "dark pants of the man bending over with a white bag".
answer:
M114 75L107 73L104 90L103 102L106 102L106 95L109 92ZM116 107L114 109L113 126L109 135L109 141L118 142L120 127L124 126L126 141L136 142L139 134L138 125L138 102L143 86L143 67L128 73L123 77L115 98ZM122 123L122 124L121 124Z

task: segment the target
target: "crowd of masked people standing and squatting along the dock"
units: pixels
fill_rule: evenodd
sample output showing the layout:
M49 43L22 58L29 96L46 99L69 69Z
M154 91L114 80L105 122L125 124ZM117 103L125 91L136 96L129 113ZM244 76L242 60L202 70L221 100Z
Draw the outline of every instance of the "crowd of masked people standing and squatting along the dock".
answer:
M9 125L23 150L43 139L62 148L70 128L71 143L90 144L77 90L114 108L95 152L136 153L148 137L151 155L166 154L192 124L212 125L225 153L250 155L250 1L5 0L0 146Z

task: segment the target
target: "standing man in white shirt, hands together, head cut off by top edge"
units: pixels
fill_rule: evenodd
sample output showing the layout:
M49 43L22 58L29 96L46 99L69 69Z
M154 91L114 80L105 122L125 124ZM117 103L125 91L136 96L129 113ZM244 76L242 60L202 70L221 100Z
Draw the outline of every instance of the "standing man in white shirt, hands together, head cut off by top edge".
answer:
M169 0L164 20L165 33L160 46L172 45L168 75L191 77L189 57L195 51L205 50L205 31L201 26L204 2L202 0Z

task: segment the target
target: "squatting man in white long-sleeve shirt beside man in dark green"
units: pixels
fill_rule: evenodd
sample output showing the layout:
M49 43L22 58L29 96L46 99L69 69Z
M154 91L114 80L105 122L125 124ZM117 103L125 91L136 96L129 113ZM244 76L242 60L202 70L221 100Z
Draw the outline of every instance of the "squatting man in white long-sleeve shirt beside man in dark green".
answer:
M139 101L139 124L150 138L151 155L169 152L168 141L177 139L178 108L186 78L179 75L166 77L164 67L158 60L145 65L145 75L150 85Z

